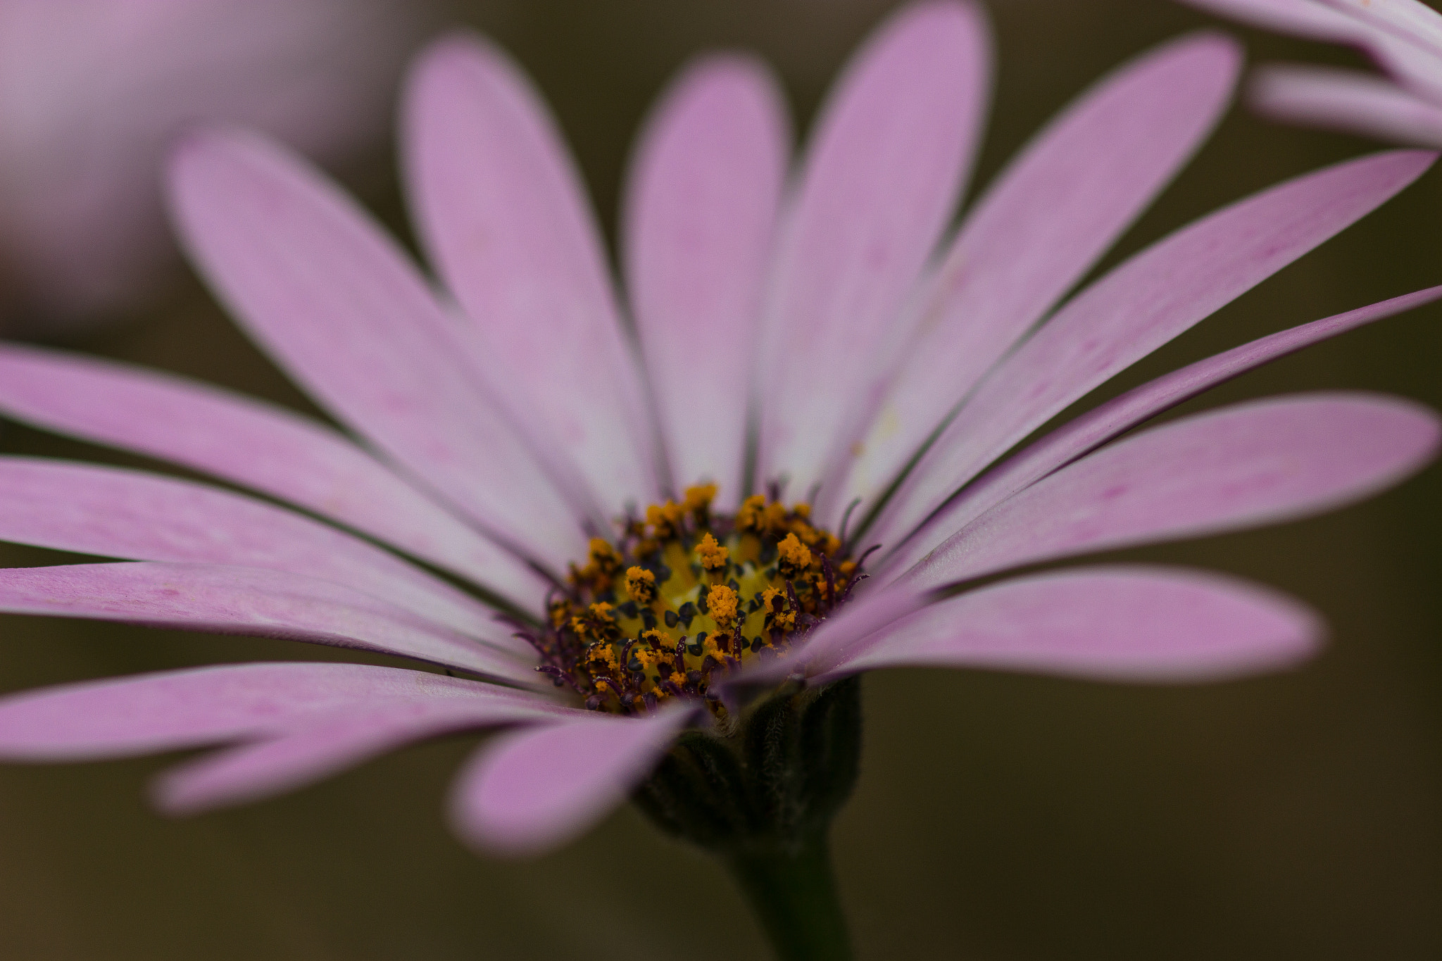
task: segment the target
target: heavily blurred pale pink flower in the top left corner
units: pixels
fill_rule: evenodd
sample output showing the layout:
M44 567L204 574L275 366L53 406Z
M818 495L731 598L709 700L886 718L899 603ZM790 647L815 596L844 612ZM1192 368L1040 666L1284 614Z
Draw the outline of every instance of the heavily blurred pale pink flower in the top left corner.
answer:
M425 4L0 0L0 326L133 305L174 261L160 157L199 120L322 161L372 144Z

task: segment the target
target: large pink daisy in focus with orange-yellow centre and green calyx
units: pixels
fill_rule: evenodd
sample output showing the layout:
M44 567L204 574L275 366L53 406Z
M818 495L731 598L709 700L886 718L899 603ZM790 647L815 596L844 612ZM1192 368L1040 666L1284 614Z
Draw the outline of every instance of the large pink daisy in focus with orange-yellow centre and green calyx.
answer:
M973 585L1298 517L1406 477L1432 457L1438 419L1376 395L1273 398L1118 438L1442 288L1184 367L1002 458L1433 154L1278 184L1066 297L1206 138L1240 58L1201 35L1122 66L952 235L989 50L975 6L904 9L848 65L795 173L769 73L738 56L691 66L636 150L626 307L558 133L482 39L433 45L405 91L408 195L443 292L291 153L235 130L189 135L169 192L192 261L346 432L167 375L4 347L7 416L268 500L0 458L0 537L124 559L3 571L0 609L294 638L466 676L286 663L62 686L0 699L0 755L218 746L156 785L163 810L193 813L506 726L456 781L464 839L536 852L640 788L663 827L746 849L733 867L784 948L787 906L767 899L818 876L855 772L846 679L932 664L1194 681L1308 657L1312 612L1221 575L1093 566ZM784 870L746 847L787 833L803 843Z

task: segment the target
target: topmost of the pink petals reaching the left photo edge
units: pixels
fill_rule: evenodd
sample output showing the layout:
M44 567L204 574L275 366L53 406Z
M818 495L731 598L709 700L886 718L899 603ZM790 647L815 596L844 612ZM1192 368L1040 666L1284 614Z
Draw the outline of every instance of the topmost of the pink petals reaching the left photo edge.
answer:
M336 431L205 383L0 344L0 412L249 487L538 609L548 585Z

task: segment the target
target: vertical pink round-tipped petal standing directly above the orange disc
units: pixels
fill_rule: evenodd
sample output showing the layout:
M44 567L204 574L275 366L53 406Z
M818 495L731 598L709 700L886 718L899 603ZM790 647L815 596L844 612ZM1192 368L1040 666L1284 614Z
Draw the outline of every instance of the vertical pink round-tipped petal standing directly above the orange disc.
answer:
M626 197L626 280L671 474L740 501L761 290L786 174L776 82L724 56L688 69L655 108Z

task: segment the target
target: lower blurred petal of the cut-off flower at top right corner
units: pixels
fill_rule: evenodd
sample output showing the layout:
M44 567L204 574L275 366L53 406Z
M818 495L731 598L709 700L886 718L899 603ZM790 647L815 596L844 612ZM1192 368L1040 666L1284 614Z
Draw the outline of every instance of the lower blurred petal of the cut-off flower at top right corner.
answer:
M1272 66L1252 76L1252 107L1308 127L1442 147L1442 107L1371 73L1317 66Z

